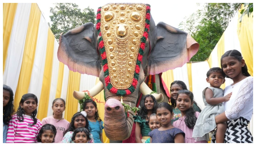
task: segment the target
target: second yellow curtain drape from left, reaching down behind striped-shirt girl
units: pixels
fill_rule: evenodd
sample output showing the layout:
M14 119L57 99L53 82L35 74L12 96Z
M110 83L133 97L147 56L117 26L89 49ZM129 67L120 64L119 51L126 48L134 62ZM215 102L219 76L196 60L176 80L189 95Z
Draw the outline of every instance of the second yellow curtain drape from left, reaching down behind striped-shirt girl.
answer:
M35 50L37 47L38 28L40 23L41 11L36 3L31 4L29 24L25 41L23 59L20 69L18 86L14 98L15 108L19 107L20 99L28 92L32 68L34 65Z

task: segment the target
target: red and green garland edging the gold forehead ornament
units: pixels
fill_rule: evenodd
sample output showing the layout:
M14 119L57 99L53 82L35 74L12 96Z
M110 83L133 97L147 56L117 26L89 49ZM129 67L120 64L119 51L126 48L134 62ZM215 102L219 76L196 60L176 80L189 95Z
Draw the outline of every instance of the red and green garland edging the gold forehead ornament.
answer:
M101 36L101 7L98 8L97 10L97 21L96 21L96 29L98 31L99 35L99 50L101 52L101 58L102 58L102 66L103 66L103 71L104 71L104 76L105 76L105 84L109 92L114 93L118 96L125 96L125 95L130 95L132 92L135 91L136 86L138 84L138 79L139 79L139 72L140 72L140 64L142 62L142 55L145 49L145 43L148 38L148 31L150 27L150 5L146 4L146 23L145 23L145 29L143 32L143 37L140 39L140 48L139 48L139 53L138 53L138 58L136 61L136 68L135 68L135 73L133 76L132 80L132 85L126 90L120 90L116 89L112 86L110 83L110 78L109 78L109 69L108 69L108 61L106 57L106 50L103 42L103 38Z

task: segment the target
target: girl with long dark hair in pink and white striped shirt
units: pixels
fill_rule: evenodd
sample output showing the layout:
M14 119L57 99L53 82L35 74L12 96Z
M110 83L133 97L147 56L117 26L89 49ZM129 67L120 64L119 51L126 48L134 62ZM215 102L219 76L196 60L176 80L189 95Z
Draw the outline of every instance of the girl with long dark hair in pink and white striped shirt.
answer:
M28 93L22 96L15 115L10 120L6 143L35 143L42 127L37 115L37 96Z

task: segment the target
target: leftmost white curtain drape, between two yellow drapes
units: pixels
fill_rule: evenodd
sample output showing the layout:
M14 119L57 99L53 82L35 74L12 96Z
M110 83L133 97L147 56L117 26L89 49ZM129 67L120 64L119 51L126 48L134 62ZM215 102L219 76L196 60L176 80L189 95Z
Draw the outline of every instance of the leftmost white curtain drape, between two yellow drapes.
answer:
M3 74L3 84L12 88L15 93L19 81L19 73L23 59L23 51L29 23L31 3L19 3L17 6L8 56Z

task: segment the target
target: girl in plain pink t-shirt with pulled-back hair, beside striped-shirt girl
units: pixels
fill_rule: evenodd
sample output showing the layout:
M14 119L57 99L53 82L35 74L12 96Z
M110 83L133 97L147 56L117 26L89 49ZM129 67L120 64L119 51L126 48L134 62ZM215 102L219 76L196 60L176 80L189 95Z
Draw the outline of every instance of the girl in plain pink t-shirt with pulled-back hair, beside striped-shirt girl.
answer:
M69 122L63 117L65 111L65 101L62 98L56 98L52 102L53 115L42 119L42 125L52 124L57 130L54 143L61 143L63 132L68 129Z

